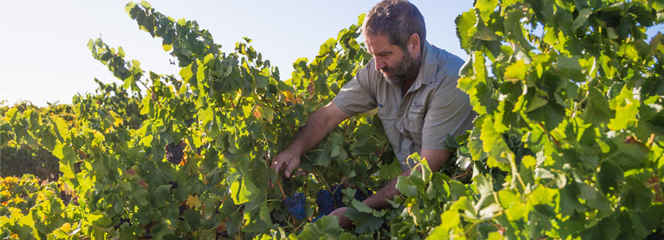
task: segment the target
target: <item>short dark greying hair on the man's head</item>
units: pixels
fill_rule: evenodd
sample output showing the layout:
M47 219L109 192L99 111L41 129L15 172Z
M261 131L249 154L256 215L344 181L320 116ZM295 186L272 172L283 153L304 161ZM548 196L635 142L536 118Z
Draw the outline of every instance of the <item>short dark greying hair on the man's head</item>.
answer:
M362 24L363 36L385 36L390 44L405 49L412 34L420 36L424 48L426 28L420 10L406 0L384 0L376 4Z

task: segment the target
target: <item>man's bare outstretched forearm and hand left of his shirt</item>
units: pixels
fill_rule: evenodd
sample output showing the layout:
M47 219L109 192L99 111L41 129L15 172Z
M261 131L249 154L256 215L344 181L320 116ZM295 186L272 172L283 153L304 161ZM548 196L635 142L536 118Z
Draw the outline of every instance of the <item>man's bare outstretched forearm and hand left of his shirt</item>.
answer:
M286 178L290 178L291 173L299 166L299 157L316 147L327 136L327 133L349 117L351 115L343 113L334 101L313 111L309 115L307 123L295 133L288 149L272 158L272 168L277 172L283 170Z

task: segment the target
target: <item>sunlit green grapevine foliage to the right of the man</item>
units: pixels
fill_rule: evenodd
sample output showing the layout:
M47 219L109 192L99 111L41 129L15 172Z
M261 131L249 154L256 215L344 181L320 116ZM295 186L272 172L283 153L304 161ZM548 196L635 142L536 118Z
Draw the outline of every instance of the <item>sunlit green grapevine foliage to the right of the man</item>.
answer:
M663 225L664 42L643 33L663 7L478 0L457 17L471 56L459 88L482 115L467 150L509 174L476 172L478 194L434 239L643 239Z

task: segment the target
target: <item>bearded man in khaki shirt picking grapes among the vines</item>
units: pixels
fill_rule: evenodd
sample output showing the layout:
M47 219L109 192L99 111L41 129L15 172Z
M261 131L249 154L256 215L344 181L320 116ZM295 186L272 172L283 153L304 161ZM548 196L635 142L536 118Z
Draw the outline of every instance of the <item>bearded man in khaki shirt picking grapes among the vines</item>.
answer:
M299 166L299 158L352 115L378 108L386 135L402 164L402 175L414 166L408 156L418 152L438 171L448 160L446 137L472 127L475 113L468 96L457 89L463 60L426 42L424 18L406 0L384 0L367 14L362 26L367 50L374 56L348 82L334 100L309 115L291 145L272 160L272 168L286 177ZM388 208L385 199L401 194L396 179L363 203ZM347 208L331 213L342 227L352 227Z

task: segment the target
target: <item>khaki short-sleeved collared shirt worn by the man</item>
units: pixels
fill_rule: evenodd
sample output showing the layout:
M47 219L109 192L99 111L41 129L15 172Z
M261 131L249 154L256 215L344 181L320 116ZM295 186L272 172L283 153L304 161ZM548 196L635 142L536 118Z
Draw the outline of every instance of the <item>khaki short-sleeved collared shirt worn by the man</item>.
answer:
M402 97L401 87L389 84L371 59L334 98L346 114L378 108L385 133L402 170L414 166L408 156L422 149L446 150L448 134L456 136L473 127L476 113L468 95L457 88L461 58L425 42L422 66Z

